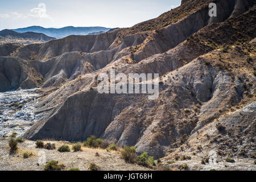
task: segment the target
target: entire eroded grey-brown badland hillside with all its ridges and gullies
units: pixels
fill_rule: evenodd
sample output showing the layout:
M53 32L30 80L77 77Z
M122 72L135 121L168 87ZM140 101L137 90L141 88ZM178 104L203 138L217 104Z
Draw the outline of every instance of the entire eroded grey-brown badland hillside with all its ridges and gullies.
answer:
M24 137L83 141L95 135L135 146L138 154L148 152L173 167L181 162L167 162L183 155L193 155L191 169L208 169L193 163L208 156L215 161L212 168L221 168L216 161L228 157L250 165L255 159L255 3L215 1L218 14L210 18L209 2L183 1L156 19L106 34L6 49L0 57L2 92L47 89L36 113L48 114ZM159 98L99 94L96 78L110 69L159 73Z

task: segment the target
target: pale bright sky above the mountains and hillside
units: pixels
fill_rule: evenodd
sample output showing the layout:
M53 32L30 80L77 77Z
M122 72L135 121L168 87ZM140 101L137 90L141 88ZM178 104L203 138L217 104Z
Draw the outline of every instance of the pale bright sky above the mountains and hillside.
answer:
M0 0L0 30L28 26L131 27L180 3L181 0Z

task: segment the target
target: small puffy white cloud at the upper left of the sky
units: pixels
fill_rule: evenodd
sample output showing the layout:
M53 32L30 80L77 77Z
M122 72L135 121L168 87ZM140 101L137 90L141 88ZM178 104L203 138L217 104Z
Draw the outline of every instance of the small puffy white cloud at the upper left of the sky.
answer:
M34 7L30 10L30 14L24 15L17 12L11 12L9 14L0 14L0 18L13 18L13 19L24 19L24 18L48 18L53 21L51 16L46 13L46 4L39 3L38 7Z

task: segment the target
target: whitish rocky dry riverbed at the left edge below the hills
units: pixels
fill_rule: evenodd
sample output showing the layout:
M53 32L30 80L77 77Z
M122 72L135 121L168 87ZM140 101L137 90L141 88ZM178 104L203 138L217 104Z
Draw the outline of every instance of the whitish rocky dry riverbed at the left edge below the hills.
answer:
M39 89L20 89L0 93L0 137L11 133L19 137L43 117L43 114L35 114L40 92Z

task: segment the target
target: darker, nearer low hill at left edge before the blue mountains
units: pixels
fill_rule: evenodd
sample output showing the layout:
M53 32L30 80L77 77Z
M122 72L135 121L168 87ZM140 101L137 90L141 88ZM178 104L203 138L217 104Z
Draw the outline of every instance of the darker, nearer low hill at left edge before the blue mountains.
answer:
M42 33L25 32L19 33L13 30L2 30L0 31L0 43L20 43L20 44L31 44L31 43L42 43L56 38L49 37Z

